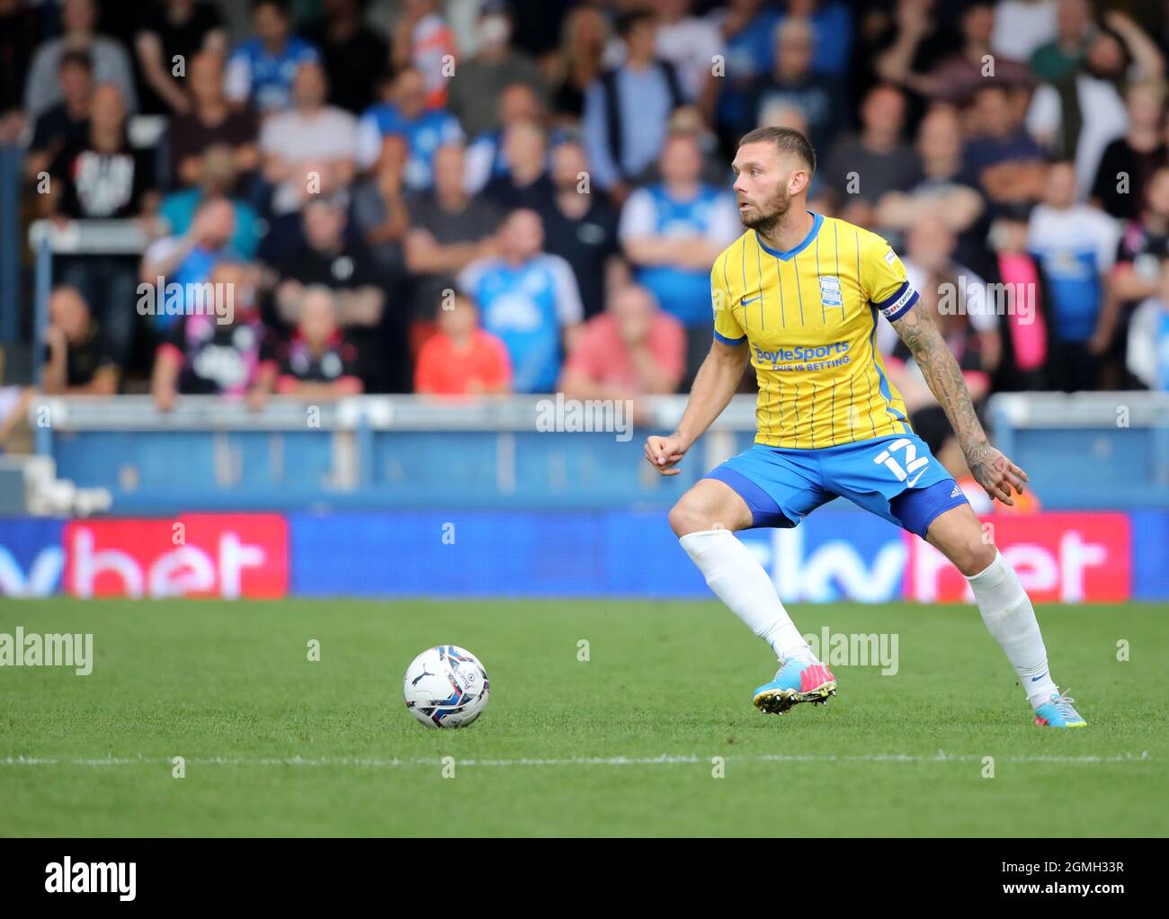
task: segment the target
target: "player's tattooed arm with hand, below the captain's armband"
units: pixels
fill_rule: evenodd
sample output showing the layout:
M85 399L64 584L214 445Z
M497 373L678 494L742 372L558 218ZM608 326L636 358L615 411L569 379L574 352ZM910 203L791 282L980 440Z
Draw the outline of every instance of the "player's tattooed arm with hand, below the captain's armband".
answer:
M962 371L942 338L933 316L920 305L893 322L893 329L913 353L921 375L946 412L957 442L966 456L970 474L991 498L1015 504L1011 489L1023 493L1026 472L990 445L970 401L970 393L962 379Z

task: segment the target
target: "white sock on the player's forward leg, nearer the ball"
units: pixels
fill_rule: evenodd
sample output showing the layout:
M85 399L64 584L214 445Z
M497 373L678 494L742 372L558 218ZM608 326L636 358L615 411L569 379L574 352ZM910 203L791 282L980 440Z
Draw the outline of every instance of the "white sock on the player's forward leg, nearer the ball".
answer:
M780 601L775 585L729 530L704 530L678 540L719 600L772 645L780 661L816 657Z

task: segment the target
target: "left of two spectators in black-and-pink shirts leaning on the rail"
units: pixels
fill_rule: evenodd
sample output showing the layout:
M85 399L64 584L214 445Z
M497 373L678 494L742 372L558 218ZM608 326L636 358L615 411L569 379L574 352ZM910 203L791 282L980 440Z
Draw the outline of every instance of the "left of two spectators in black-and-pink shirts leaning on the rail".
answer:
M256 271L242 262L222 262L212 283L233 291L226 316L181 317L158 347L151 394L159 412L174 408L180 395L245 398L260 409L276 376L276 364L264 359L268 331L256 308Z

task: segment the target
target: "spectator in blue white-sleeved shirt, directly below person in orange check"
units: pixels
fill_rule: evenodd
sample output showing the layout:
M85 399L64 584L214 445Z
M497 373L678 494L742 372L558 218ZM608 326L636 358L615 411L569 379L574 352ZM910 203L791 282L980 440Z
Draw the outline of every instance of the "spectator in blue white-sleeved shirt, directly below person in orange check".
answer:
M389 85L389 101L374 105L361 116L358 127L358 164L368 170L381 156L385 138L406 139L409 157L402 181L411 192L429 188L434 181L434 156L443 144L463 140L458 120L443 109L427 108L422 72L413 67L401 70Z

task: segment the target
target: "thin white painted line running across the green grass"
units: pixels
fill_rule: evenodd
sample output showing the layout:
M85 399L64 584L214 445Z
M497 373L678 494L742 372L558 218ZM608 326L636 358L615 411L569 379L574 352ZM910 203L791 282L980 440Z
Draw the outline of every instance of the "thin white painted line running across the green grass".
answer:
M177 754L181 755L181 754ZM994 754L957 754L938 751L932 756L916 755L912 753L877 753L869 755L819 755L819 754L781 754L761 753L745 756L725 756L726 762L981 762L985 755ZM1108 762L1146 762L1154 758L1149 752L1120 753L1113 756L996 756L1003 762L1058 762L1058 763L1108 763ZM572 756L567 759L459 759L454 758L458 766L662 766L672 763L707 763L711 758L703 758L687 754L663 753L659 756ZM374 769L400 768L403 766L442 766L442 759L409 758L400 759L369 759L359 756L334 756L306 759L304 756L192 756L185 759L188 766L341 766L360 767ZM145 756L124 758L104 756L99 759L87 758L58 758L58 756L23 756L9 755L0 759L0 766L171 766L170 759L148 759Z

